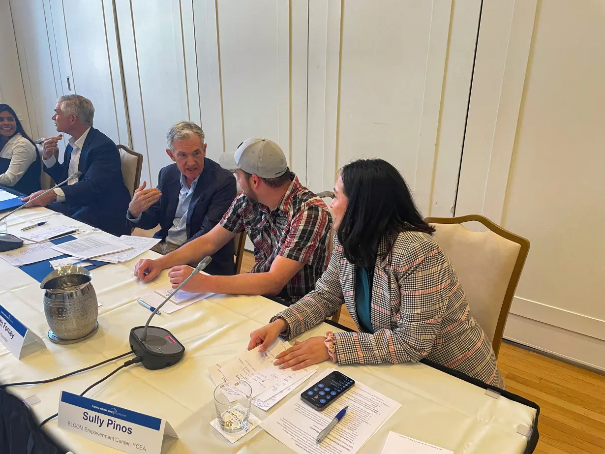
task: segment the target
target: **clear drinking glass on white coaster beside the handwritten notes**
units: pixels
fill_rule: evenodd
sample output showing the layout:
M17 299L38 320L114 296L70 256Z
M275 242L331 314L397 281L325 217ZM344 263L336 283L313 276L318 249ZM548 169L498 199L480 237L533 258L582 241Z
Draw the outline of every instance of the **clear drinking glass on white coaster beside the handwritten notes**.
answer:
M214 406L217 410L218 424L226 433L247 430L250 422L250 406L252 405L252 387L245 381L238 381L229 390L223 392L225 385L220 384L214 389ZM229 402L225 394L231 396Z

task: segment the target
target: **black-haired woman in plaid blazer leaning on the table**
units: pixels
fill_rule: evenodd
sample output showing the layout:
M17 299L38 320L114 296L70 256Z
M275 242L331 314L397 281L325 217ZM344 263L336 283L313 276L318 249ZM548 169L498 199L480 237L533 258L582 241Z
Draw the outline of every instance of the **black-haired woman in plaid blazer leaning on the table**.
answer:
M401 174L381 159L342 168L332 202L334 251L306 297L250 334L263 351L280 335L291 339L346 304L360 332L327 332L278 355L299 369L330 359L339 364L405 363L428 358L504 387L494 350L469 315L460 281L433 240Z

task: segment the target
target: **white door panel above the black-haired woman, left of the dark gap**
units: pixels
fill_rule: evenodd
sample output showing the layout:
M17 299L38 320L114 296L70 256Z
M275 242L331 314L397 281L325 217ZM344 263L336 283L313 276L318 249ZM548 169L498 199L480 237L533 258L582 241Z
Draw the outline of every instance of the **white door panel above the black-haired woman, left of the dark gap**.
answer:
M310 189L381 157L425 215L451 217L480 3L310 0Z

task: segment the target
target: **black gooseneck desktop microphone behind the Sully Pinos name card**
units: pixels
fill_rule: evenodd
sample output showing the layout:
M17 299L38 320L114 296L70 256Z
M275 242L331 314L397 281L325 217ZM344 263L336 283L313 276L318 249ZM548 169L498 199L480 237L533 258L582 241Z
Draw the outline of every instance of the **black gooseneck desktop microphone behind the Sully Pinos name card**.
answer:
M155 311L149 315L145 326L136 326L130 330L130 347L132 352L142 358L141 364L145 369L164 369L172 366L185 355L185 347L181 344L170 331L159 326L149 326L149 322L157 311L168 301L176 292L178 292L189 279L198 274L212 262L212 257L204 257L197 264L194 271L191 272L181 285L172 291L168 297L162 301L162 304L155 308Z

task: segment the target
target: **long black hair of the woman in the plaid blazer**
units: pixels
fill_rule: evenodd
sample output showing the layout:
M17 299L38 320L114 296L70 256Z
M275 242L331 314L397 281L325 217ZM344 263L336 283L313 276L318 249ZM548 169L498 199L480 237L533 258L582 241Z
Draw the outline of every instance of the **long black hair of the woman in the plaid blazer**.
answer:
M336 234L350 263L373 266L383 237L387 255L400 232L435 231L422 219L404 178L385 160L350 162L341 169L341 179L348 204Z

